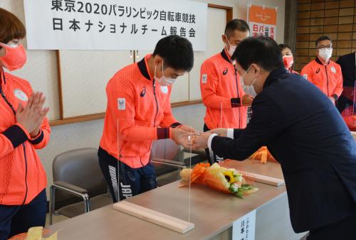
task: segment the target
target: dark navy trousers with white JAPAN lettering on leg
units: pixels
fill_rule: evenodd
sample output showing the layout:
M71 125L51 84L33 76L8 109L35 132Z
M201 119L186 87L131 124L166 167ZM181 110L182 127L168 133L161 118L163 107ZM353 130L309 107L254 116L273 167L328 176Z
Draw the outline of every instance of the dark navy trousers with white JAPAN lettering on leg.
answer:
M152 163L142 168L130 168L103 148L99 148L98 157L113 202L125 200L157 187L155 168Z

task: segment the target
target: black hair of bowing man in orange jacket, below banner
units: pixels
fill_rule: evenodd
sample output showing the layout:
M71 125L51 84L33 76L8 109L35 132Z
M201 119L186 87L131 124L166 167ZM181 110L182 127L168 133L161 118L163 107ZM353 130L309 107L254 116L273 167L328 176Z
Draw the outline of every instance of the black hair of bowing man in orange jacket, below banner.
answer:
M177 35L167 36L158 41L153 55L159 55L164 60L164 67L189 72L194 65L192 43L187 38Z

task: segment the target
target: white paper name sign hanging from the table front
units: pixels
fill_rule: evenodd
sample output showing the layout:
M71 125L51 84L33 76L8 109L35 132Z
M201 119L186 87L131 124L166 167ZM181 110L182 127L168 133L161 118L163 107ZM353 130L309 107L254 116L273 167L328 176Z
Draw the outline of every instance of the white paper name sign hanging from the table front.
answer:
M256 210L232 224L232 240L254 240L256 228Z

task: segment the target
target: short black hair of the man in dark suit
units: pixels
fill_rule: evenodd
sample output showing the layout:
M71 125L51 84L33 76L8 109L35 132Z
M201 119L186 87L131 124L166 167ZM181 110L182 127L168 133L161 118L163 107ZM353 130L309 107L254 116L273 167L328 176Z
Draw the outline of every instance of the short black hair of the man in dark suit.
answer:
M266 71L283 67L282 53L278 44L266 36L249 37L241 41L231 59L236 60L245 71L252 63Z

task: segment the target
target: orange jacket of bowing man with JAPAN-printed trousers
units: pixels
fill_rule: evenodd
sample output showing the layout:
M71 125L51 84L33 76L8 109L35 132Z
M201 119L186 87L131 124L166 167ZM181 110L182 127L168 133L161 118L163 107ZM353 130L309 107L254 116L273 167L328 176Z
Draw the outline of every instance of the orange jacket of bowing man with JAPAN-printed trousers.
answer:
M172 88L155 82L148 58L118 71L106 87L108 105L100 148L130 168L147 165L152 141L170 138L171 129L181 125L172 115Z

